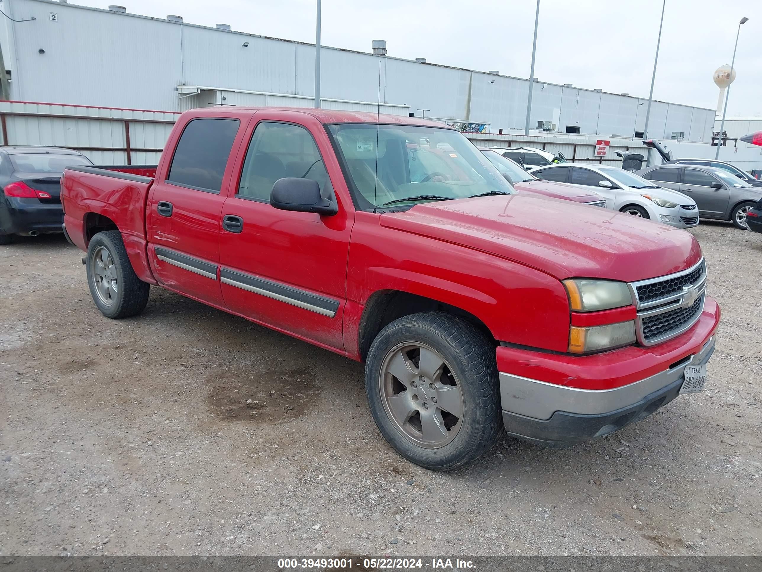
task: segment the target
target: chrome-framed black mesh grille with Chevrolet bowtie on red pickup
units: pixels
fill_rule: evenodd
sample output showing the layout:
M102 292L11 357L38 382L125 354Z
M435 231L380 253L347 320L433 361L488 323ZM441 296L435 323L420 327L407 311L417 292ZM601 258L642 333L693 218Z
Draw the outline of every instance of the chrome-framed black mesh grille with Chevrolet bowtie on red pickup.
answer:
M636 336L642 345L665 342L696 323L704 307L706 263L682 272L629 284L638 310Z

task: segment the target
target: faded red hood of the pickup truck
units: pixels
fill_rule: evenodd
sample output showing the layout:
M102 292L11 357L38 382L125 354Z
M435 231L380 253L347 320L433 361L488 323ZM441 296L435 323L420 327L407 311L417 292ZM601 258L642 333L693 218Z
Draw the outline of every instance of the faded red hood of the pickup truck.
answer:
M511 194L417 204L380 216L383 227L489 252L564 278L636 281L690 268L693 235L568 201Z

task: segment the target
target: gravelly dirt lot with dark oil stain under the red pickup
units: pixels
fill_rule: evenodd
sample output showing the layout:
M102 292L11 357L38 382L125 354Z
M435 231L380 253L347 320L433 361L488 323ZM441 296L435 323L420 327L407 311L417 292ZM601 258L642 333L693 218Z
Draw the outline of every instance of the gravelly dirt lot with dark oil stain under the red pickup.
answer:
M450 474L386 445L360 364L159 288L107 320L64 239L0 246L0 554L760 554L762 235L694 234L707 391Z

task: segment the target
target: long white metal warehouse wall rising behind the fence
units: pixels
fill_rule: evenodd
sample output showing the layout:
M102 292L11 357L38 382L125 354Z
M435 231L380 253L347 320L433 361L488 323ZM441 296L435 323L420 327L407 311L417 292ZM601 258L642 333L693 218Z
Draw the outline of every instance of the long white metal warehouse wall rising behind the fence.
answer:
M0 26L15 99L182 110L207 102L199 96L178 98L178 85L312 95L315 48L309 44L49 0L5 4L11 16L37 18L5 19ZM56 21L50 21L50 11ZM9 42L8 34L15 40ZM242 47L244 41L248 47ZM393 46L389 49L394 53ZM385 103L488 123L491 132L523 127L529 85L524 79L334 48L322 50L321 69L325 98L376 101L380 71ZM533 93L532 127L553 121L560 131L570 125L601 137L631 137L645 123L642 98L546 83L538 83ZM708 142L713 122L714 110L655 101L648 134L668 139L684 132L686 140Z

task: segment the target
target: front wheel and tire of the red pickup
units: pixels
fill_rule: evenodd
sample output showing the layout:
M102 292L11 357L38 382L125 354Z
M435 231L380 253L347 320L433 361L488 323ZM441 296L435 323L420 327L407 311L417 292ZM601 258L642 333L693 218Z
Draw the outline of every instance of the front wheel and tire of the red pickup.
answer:
M503 431L494 342L449 313L416 313L381 330L367 355L365 389L389 445L427 469L449 471L473 461Z

